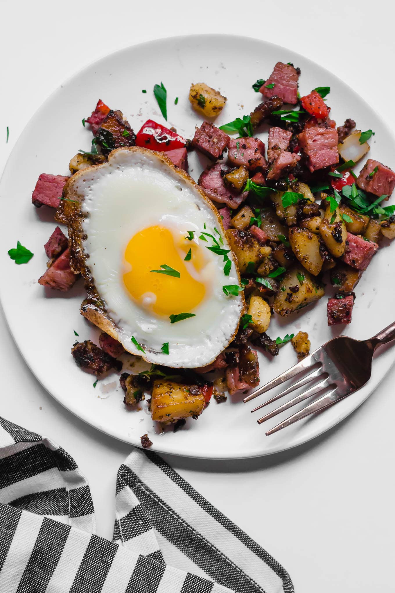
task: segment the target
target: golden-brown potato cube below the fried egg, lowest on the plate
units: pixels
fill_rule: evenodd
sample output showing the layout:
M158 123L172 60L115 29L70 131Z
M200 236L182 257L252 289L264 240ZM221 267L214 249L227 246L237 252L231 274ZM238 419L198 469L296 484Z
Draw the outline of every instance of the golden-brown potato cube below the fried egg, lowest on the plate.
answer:
M204 409L204 395L203 393L192 394L191 387L193 386L173 381L154 381L151 400L152 420L172 422L188 416L199 416Z

